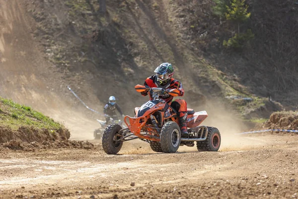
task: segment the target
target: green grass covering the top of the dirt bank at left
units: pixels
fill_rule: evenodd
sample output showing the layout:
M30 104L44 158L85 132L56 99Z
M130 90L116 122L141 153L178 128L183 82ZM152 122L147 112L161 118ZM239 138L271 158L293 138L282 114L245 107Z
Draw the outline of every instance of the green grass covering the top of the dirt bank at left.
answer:
M63 128L62 124L55 122L41 112L12 100L0 98L0 107L0 125L2 126L9 126L12 129L18 129L20 126L34 126L49 130Z

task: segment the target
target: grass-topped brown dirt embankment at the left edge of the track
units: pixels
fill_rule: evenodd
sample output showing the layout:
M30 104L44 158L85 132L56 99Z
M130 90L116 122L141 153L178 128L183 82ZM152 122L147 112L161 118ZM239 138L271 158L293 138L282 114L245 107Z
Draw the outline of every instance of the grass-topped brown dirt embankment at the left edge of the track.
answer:
M29 106L0 98L0 148L93 147L89 142L69 141L70 137L63 124Z

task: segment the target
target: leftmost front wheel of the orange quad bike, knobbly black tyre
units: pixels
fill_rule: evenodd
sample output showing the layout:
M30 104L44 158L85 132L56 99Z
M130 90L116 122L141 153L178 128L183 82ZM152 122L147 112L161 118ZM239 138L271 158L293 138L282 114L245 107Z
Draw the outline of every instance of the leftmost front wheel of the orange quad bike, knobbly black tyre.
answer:
M102 135L102 148L107 154L117 154L122 148L123 142L117 142L121 138L118 133L122 127L118 124L109 124Z

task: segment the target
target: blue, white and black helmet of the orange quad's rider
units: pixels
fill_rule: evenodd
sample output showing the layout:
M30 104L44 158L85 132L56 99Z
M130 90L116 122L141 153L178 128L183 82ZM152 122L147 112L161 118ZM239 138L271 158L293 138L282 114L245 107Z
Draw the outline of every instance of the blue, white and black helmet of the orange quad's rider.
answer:
M157 76L157 83L165 85L172 78L174 69L170 63L162 63L155 69L154 73Z

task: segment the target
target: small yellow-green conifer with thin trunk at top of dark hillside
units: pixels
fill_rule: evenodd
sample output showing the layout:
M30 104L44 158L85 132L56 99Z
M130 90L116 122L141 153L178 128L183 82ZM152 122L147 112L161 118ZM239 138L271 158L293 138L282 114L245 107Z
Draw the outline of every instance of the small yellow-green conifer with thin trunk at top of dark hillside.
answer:
M250 17L250 12L247 12L248 5L245 5L245 0L231 0L230 6L226 5L227 12L225 18L237 23L238 35L240 34L239 24Z

